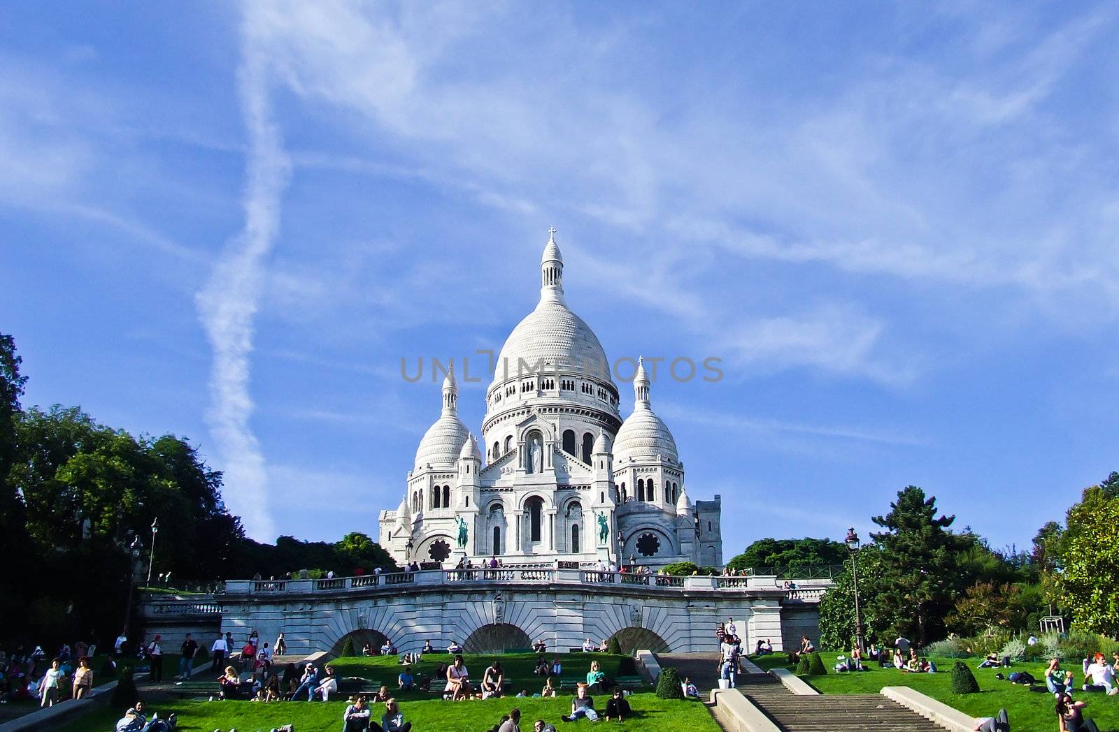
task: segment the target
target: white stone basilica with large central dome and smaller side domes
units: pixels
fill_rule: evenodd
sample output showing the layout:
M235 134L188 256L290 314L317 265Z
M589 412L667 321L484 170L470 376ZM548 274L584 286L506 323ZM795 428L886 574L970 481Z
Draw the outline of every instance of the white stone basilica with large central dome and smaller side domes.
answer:
M564 302L554 230L540 277L539 303L495 362L481 448L459 419L449 374L404 498L380 512L380 545L398 562L722 564L720 496L688 498L641 363L622 420L605 352Z

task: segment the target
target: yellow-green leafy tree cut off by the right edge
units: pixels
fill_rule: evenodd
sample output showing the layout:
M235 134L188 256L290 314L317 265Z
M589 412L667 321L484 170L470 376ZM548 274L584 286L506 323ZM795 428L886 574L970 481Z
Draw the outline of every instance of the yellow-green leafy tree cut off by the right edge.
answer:
M1112 473L1111 475L1115 475ZM1069 508L1060 573L1073 624L1082 630L1119 634L1119 497L1102 486L1085 488Z

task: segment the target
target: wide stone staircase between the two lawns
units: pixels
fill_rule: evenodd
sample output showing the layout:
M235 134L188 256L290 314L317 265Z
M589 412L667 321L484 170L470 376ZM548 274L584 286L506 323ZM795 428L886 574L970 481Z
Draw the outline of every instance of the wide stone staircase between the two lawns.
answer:
M680 678L690 676L705 696L718 685L715 654L658 654L657 659L661 667L674 666ZM943 732L880 694L800 696L769 674L743 674L737 690L786 732Z

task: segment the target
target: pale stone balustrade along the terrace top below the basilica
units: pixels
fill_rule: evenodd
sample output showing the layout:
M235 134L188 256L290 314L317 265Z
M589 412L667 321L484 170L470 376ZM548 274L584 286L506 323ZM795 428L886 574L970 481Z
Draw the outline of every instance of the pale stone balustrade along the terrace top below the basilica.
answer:
M499 567L496 569L432 569L417 572L393 572L387 574L363 574L360 577L335 577L330 579L284 579L284 580L228 580L226 595L274 595L274 593L332 593L357 589L374 589L401 584L411 586L458 586L458 584L573 584L617 587L640 587L653 591L715 590L715 591L772 591L774 588L759 587L745 577L676 577L671 574L641 574L636 572L610 572L594 569L546 568L543 565ZM822 589L786 590L787 596L803 601L818 601Z

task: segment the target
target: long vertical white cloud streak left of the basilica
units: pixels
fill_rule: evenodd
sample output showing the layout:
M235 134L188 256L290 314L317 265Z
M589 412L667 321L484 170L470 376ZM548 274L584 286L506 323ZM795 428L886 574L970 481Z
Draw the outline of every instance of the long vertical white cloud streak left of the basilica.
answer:
M258 42L256 28L250 10L243 25L238 75L250 139L245 225L225 248L197 302L214 349L207 417L225 467L225 500L244 519L248 533L272 540L275 524L269 506L269 474L250 425L254 410L250 359L265 258L280 228L281 196L290 163L273 120L269 50Z

